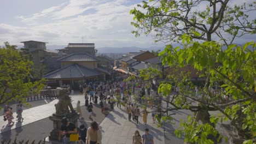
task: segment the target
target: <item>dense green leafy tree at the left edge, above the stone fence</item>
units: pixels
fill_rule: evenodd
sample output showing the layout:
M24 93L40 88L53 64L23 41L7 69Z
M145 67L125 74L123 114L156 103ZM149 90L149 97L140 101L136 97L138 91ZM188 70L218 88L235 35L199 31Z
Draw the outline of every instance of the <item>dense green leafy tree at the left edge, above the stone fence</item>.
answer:
M38 93L43 88L44 79L30 81L33 62L24 57L16 46L5 42L0 47L0 104L10 101L24 101L28 92Z

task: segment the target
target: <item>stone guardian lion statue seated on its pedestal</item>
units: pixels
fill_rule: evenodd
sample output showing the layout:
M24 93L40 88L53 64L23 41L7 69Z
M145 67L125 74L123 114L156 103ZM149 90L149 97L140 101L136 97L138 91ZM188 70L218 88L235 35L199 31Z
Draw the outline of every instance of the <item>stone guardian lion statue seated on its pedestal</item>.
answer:
M59 102L55 104L55 109L56 109L56 115L68 115L69 109L73 112L73 106L71 104L71 99L68 95L67 89L62 88L60 89L60 94L59 94Z

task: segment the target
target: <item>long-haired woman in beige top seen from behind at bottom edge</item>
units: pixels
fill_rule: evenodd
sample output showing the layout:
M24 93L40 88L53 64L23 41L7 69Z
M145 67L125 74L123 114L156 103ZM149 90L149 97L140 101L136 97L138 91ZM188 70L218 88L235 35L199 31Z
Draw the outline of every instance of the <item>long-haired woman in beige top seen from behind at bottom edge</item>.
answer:
M98 128L97 122L92 122L91 127L87 130L86 144L102 144L102 133Z

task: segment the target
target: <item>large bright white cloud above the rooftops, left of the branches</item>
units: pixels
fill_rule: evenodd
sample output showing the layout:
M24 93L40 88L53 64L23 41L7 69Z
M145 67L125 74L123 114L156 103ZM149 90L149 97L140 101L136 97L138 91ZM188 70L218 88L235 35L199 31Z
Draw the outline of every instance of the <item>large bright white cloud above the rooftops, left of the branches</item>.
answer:
M95 43L97 47L151 46L151 38L135 38L131 34L133 27L130 22L133 16L129 12L136 5L124 5L126 3L126 0L71 0L31 16L19 16L26 26L9 25L9 29L13 29L10 31L12 34L0 34L0 41L19 44L24 40L40 40L66 45L80 43L84 37L85 43ZM84 14L86 10L93 12ZM26 36L18 38L13 32L26 32Z

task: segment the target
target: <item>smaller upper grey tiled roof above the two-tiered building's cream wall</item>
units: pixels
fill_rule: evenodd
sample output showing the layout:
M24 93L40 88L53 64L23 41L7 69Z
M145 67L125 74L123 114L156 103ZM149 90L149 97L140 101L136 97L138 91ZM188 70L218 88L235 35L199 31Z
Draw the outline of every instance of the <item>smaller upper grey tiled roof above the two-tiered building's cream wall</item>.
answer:
M72 53L66 57L57 59L61 62L98 62L100 59L95 56L90 55L89 53Z

